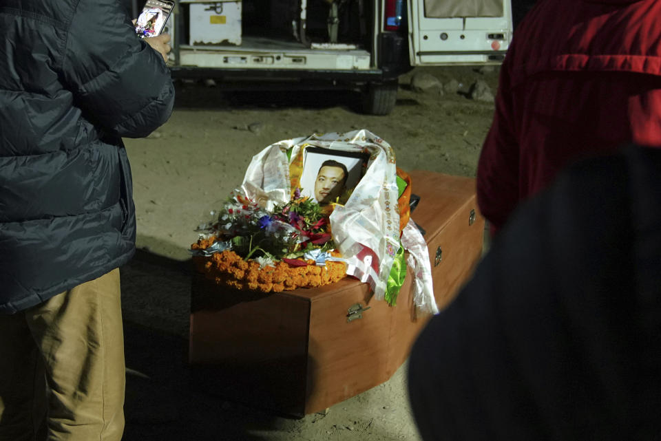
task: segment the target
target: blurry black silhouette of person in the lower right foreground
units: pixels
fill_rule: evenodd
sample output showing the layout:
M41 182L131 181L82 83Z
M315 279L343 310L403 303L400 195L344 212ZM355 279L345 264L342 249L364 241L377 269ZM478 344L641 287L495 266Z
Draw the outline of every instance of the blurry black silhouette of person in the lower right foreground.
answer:
M513 213L421 332L424 441L658 440L661 150L578 162Z

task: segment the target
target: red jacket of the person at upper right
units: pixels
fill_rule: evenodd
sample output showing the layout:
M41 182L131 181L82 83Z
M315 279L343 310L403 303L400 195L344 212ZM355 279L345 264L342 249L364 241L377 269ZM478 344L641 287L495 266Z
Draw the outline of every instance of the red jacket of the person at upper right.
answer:
M661 1L542 0L501 67L477 171L495 231L569 162L661 146Z

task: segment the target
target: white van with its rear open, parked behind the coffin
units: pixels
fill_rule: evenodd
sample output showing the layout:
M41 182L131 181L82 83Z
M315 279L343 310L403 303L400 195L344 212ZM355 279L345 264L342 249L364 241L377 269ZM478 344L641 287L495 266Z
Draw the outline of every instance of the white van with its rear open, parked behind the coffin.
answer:
M503 61L510 0L180 0L169 21L174 78L227 89L350 88L386 115L415 66Z

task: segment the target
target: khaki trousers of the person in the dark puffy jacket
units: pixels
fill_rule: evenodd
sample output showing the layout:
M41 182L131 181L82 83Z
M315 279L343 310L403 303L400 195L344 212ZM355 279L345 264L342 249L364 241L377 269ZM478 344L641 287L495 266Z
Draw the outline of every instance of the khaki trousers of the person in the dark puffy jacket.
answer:
M0 441L118 441L124 431L119 270L0 315Z

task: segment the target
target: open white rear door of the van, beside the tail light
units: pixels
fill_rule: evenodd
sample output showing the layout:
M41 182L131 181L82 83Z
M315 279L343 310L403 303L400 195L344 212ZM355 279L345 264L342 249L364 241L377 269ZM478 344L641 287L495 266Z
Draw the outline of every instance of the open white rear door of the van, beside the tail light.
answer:
M499 64L512 39L510 0L409 0L412 66Z

